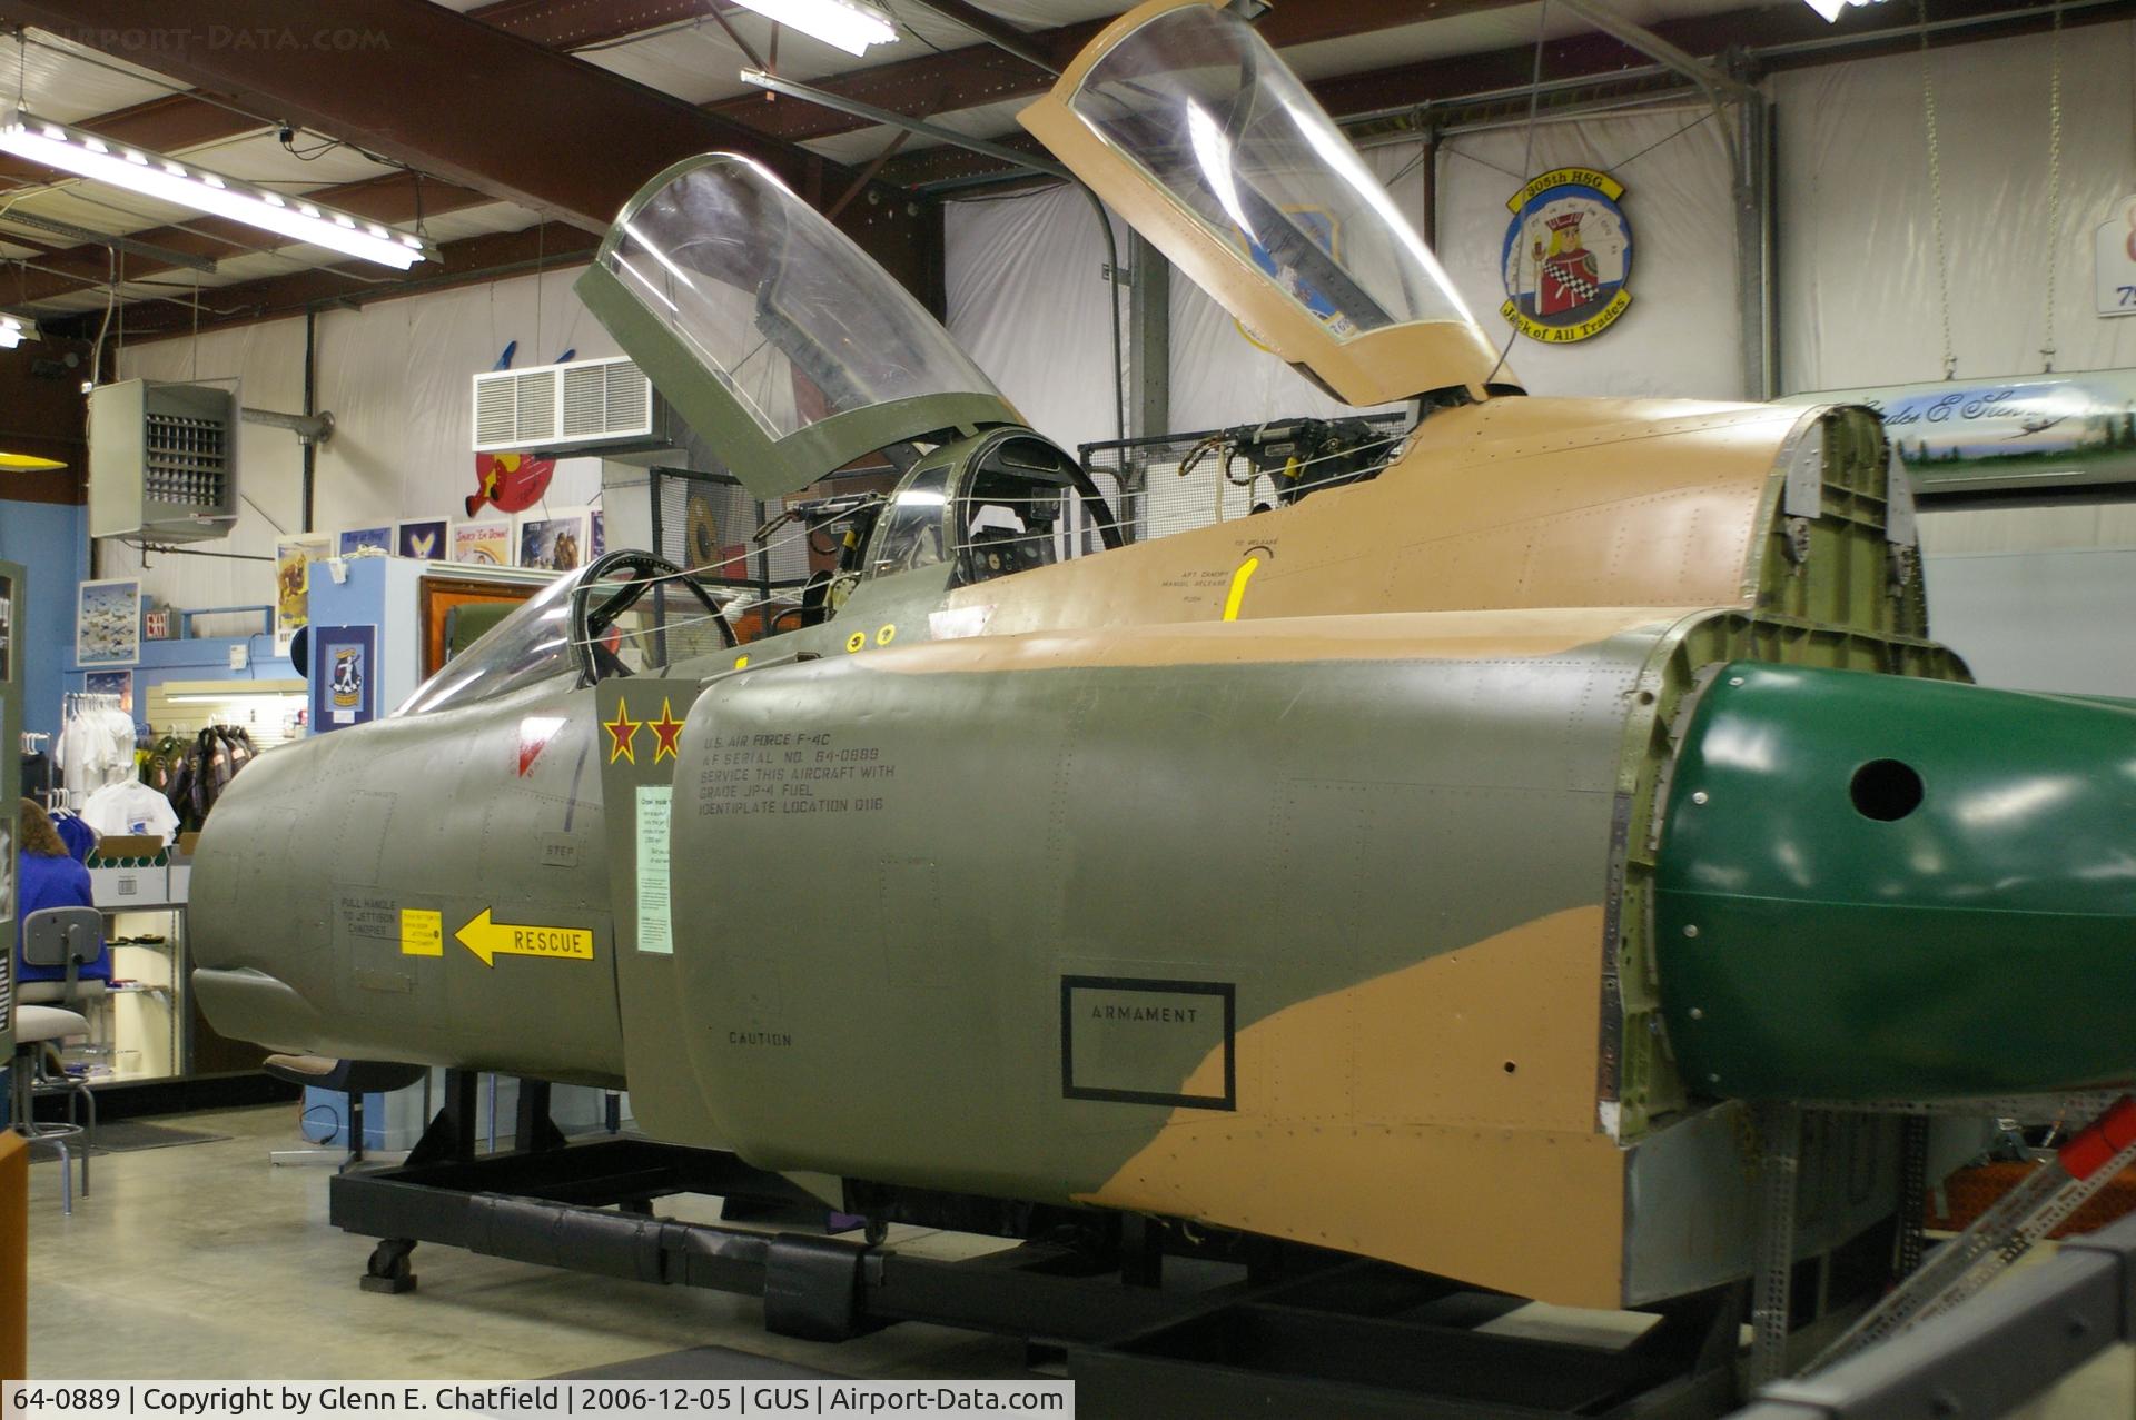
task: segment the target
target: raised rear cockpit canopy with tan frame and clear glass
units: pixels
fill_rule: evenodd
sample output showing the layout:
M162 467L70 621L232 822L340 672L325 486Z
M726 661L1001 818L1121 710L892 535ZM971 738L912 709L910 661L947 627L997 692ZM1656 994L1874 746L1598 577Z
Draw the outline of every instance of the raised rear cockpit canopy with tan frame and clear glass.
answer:
M1493 378L1497 350L1423 237L1290 66L1218 4L1124 15L1023 126L1339 399Z

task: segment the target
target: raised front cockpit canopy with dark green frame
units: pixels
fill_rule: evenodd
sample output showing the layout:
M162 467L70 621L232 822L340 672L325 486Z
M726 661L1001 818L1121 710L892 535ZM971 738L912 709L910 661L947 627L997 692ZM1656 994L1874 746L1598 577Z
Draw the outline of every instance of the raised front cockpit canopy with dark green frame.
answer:
M654 177L579 295L758 498L936 429L1021 423L904 286L737 154Z

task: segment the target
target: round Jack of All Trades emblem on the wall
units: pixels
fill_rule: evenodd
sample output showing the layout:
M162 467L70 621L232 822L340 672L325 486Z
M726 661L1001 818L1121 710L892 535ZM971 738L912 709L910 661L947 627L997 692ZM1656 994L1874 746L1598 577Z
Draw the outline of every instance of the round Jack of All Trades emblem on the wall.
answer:
M1551 169L1506 199L1512 220L1497 314L1549 346L1591 340L1632 305L1632 220L1623 184L1602 169Z

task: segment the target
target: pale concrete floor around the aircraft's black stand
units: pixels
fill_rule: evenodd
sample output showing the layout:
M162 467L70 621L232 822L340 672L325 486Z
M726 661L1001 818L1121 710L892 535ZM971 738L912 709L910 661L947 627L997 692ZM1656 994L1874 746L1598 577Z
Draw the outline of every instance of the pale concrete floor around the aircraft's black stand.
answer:
M523 1379L701 1345L852 1377L1032 1375L1017 1341L914 1324L844 1345L788 1341L765 1332L763 1305L750 1298L427 1243L414 1251L414 1292L363 1292L357 1277L372 1243L327 1226L331 1170L267 1164L269 1149L299 1147L295 1106L160 1123L231 1138L98 1155L94 1194L75 1200L73 1217L60 1213L58 1164L30 1170L34 1377ZM891 1236L933 1256L993 1247L914 1228ZM1553 1311L1523 1309L1493 1330L1572 1339L1613 1320ZM2136 1354L2100 1356L2021 1414L2136 1418Z

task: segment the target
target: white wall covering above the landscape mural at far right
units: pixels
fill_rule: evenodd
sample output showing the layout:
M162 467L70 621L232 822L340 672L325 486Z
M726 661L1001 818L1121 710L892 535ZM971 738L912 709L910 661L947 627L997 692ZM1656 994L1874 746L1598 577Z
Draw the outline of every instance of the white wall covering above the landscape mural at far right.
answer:
M2136 316L2093 314L2093 228L2136 190L2132 23L2061 36L2061 220L2048 220L2053 38L1929 53L1937 96L1950 340L1959 378L2040 369L2046 252L2057 369L2136 365ZM1922 60L1897 53L1771 81L1779 130L1781 386L1939 380L1942 299Z

